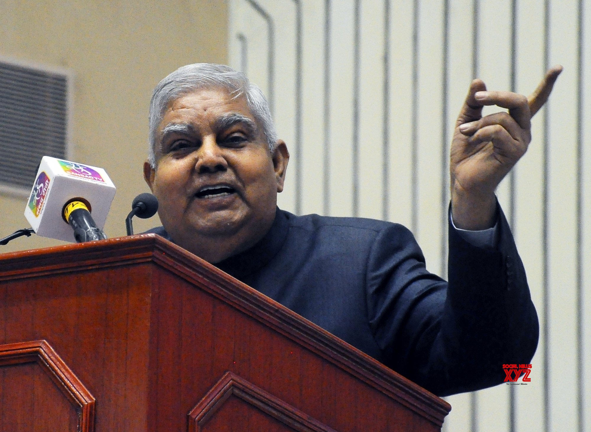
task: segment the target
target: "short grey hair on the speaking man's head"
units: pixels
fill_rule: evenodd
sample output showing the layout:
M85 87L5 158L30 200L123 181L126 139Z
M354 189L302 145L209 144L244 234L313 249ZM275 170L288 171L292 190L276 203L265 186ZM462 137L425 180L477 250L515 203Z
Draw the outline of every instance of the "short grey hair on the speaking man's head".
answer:
M244 96L256 122L262 126L271 153L277 145L277 131L271 118L269 104L261 89L251 83L243 72L233 70L229 66L213 63L194 63L181 66L161 80L150 101L150 151L148 162L152 168L156 166L156 139L158 127L170 102L190 92L201 89L221 87L230 92L233 98Z

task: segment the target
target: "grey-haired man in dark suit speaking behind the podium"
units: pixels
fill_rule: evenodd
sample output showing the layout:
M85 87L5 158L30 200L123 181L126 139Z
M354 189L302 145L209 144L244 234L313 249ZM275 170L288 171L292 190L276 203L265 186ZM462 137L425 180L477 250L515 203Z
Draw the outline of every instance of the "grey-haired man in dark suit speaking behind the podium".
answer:
M528 363L538 321L495 198L530 143L530 101L470 85L451 150L449 283L398 224L277 208L289 153L262 92L228 66L183 66L155 88L144 177L152 232L213 263L439 395L501 383ZM508 108L481 117L484 105Z

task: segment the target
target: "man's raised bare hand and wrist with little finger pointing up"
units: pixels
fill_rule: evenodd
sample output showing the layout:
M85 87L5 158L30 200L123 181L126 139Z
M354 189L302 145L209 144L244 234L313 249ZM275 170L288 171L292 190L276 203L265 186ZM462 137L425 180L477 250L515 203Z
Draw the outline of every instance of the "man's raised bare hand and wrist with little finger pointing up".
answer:
M456 227L482 230L495 218L495 189L523 156L531 141L531 117L545 104L562 72L554 66L529 98L512 92L486 91L475 79L456 121L450 151L452 215ZM509 112L482 117L482 107Z

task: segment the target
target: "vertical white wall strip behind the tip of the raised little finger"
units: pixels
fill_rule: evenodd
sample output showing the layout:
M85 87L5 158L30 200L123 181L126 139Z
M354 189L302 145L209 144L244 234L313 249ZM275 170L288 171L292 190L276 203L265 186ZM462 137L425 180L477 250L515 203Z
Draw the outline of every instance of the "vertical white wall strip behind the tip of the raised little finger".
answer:
M549 105L548 311L550 430L576 430L576 71L577 4L551 4L550 62L565 70ZM565 133L565 131L567 131Z

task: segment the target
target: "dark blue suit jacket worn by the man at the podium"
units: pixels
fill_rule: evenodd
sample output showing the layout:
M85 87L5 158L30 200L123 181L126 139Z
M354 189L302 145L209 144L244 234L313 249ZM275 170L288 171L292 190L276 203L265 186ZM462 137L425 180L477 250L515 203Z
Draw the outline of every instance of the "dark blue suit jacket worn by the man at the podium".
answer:
M150 232L169 238L162 227ZM500 209L498 234L487 250L450 227L445 282L427 272L402 225L277 209L258 244L216 266L449 395L502 383L502 365L528 363L537 346L537 315Z

